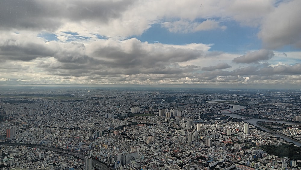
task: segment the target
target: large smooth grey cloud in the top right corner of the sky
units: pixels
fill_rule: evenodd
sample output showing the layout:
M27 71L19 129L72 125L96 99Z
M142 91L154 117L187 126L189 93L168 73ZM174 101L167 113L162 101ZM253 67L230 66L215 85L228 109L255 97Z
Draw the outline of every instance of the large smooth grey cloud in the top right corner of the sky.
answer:
M266 49L278 49L286 45L301 48L301 1L285 1L262 20L258 37Z

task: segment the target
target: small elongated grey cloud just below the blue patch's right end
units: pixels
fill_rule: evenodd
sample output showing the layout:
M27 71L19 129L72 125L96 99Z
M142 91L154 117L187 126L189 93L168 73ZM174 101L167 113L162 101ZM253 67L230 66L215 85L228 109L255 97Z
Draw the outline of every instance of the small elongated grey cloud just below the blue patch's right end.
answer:
M274 56L271 50L259 50L255 52L249 52L243 56L239 56L233 59L235 63L258 63L262 60L271 59Z

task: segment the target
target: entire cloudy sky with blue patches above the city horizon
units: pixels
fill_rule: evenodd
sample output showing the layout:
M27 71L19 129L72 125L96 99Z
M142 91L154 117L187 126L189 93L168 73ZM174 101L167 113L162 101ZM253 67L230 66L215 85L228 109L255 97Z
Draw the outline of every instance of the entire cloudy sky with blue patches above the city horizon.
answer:
M300 0L0 0L0 86L301 89Z

